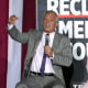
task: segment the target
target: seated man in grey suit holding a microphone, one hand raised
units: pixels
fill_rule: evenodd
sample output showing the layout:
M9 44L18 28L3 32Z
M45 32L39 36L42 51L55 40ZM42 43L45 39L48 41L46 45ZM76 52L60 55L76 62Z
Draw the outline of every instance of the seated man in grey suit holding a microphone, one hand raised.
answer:
M57 14L46 11L43 30L30 30L28 33L18 31L18 19L11 15L7 28L12 38L28 45L23 79L16 88L65 88L62 66L70 66L73 55L69 38L55 32Z

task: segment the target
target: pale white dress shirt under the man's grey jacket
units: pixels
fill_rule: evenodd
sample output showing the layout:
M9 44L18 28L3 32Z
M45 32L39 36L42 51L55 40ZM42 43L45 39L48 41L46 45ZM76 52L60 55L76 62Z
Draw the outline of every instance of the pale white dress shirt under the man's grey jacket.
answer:
M41 42L40 42L40 44L38 44L38 46L36 48L36 53L34 55L32 64L31 64L31 72L40 73L40 68L41 68L41 64L42 64L42 59L43 59L43 54L44 54L45 35L46 35L46 33L43 32L42 40L41 40ZM51 47L53 45L54 35L55 35L55 32L50 34L48 45ZM53 73L54 74L54 69L52 67L51 59L53 59L53 58L52 57L46 57L44 73Z

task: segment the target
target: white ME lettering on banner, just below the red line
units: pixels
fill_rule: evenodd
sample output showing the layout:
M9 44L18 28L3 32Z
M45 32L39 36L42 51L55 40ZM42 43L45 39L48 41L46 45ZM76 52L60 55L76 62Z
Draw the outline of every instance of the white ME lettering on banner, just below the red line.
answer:
M88 38L88 21L58 21L58 32L68 33L69 38Z

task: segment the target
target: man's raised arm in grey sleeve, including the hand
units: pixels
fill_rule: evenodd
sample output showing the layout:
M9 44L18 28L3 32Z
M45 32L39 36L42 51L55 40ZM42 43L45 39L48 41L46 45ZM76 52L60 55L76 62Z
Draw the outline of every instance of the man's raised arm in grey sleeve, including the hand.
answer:
M15 26L15 20L19 20L19 18L16 18L15 15L11 15L9 18L7 31L13 40L26 44L29 40L29 33L21 33Z

